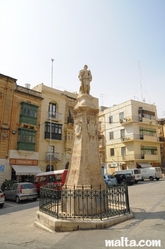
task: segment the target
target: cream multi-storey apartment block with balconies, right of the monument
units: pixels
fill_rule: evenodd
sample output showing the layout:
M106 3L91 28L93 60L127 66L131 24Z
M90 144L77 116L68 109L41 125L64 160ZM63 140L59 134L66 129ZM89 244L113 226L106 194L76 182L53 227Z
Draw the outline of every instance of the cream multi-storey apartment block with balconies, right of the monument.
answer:
M102 127L104 172L145 166L161 166L157 110L155 105L129 100L99 113ZM101 151L101 149L100 149Z

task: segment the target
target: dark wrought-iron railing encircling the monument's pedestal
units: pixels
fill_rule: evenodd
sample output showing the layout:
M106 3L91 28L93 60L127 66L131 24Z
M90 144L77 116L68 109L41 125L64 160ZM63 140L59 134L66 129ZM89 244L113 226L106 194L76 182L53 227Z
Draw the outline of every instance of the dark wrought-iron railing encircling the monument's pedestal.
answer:
M67 209L66 209L67 206ZM82 208L83 207L83 208ZM127 185L106 189L68 189L44 186L40 190L39 210L57 219L105 220L130 213Z

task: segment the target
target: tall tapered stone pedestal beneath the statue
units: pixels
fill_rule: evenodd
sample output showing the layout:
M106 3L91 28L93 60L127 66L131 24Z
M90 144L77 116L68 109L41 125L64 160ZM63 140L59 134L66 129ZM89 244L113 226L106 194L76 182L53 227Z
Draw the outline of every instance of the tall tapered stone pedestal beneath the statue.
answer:
M85 190L104 191L106 185L102 176L102 170L99 158L99 142L98 142L98 122L97 114L99 110L93 103L93 97L89 94L79 95L78 103L74 108L74 130L75 138L69 172L64 186L70 190L81 190L82 186ZM80 199L79 199L80 200ZM62 199L63 211L67 213L91 213L97 201L84 199L79 201L79 205L71 199ZM88 204L87 204L88 202ZM97 213L106 210L105 200L98 200ZM102 204L101 204L102 203ZM79 209L79 210L78 210ZM104 210L102 210L104 209ZM96 210L96 209L95 209Z

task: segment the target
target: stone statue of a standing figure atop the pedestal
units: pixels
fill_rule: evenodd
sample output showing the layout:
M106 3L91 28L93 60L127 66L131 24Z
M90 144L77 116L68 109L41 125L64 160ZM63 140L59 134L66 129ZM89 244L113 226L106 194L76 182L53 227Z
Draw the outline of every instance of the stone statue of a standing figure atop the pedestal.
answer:
M78 78L81 81L80 94L90 94L90 82L92 81L92 74L91 71L88 70L87 65L84 66L84 69L80 70Z

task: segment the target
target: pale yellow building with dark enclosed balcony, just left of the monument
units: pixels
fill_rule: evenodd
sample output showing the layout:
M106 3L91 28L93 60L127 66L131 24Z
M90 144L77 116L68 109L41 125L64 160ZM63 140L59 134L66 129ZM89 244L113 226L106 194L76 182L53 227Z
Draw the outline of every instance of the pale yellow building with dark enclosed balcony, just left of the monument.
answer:
M73 147L73 108L77 94L39 84L42 94L39 167L42 171L68 168Z

